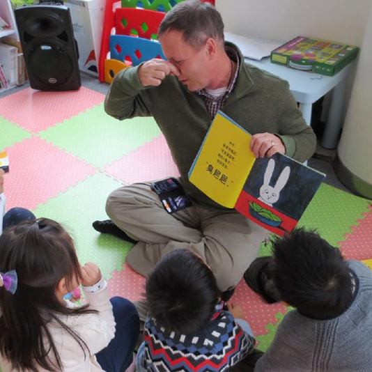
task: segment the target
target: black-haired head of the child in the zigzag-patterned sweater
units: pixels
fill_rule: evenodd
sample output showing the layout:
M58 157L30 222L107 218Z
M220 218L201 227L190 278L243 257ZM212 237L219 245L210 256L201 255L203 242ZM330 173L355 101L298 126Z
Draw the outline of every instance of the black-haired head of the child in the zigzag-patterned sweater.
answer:
M206 325L220 295L210 268L186 249L166 254L146 281L150 316L160 327L180 334L192 334Z

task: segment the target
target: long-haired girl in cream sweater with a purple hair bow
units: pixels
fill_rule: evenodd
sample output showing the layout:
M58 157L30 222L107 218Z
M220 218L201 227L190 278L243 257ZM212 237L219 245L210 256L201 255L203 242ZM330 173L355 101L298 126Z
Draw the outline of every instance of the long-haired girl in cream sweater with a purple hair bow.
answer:
M87 304L63 297L82 284ZM95 263L79 264L72 238L51 219L22 222L0 236L2 372L123 372L139 332L134 305L109 300Z

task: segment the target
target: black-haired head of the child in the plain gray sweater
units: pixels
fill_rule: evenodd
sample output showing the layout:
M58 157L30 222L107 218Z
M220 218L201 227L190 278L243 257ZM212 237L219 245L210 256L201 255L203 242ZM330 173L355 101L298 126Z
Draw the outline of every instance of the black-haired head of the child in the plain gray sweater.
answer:
M270 265L281 299L309 318L339 316L352 301L352 277L339 249L313 231L274 240Z

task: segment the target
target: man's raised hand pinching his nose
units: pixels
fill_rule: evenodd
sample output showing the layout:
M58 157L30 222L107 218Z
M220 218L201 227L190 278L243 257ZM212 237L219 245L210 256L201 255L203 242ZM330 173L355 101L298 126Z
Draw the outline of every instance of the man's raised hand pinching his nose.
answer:
M164 59L150 59L138 70L139 81L143 86L159 86L166 75L180 75L175 65Z

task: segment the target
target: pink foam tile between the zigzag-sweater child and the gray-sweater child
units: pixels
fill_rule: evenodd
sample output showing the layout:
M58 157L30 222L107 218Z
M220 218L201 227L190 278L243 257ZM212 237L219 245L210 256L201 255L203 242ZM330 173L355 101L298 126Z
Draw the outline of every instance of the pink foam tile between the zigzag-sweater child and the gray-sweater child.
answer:
M251 325L255 336L268 334L266 325L268 323L274 325L278 322L275 315L287 311L283 302L277 302L276 304L264 302L259 295L247 286L244 279L240 280L238 286L236 286L231 302L240 304L245 311L245 320Z

